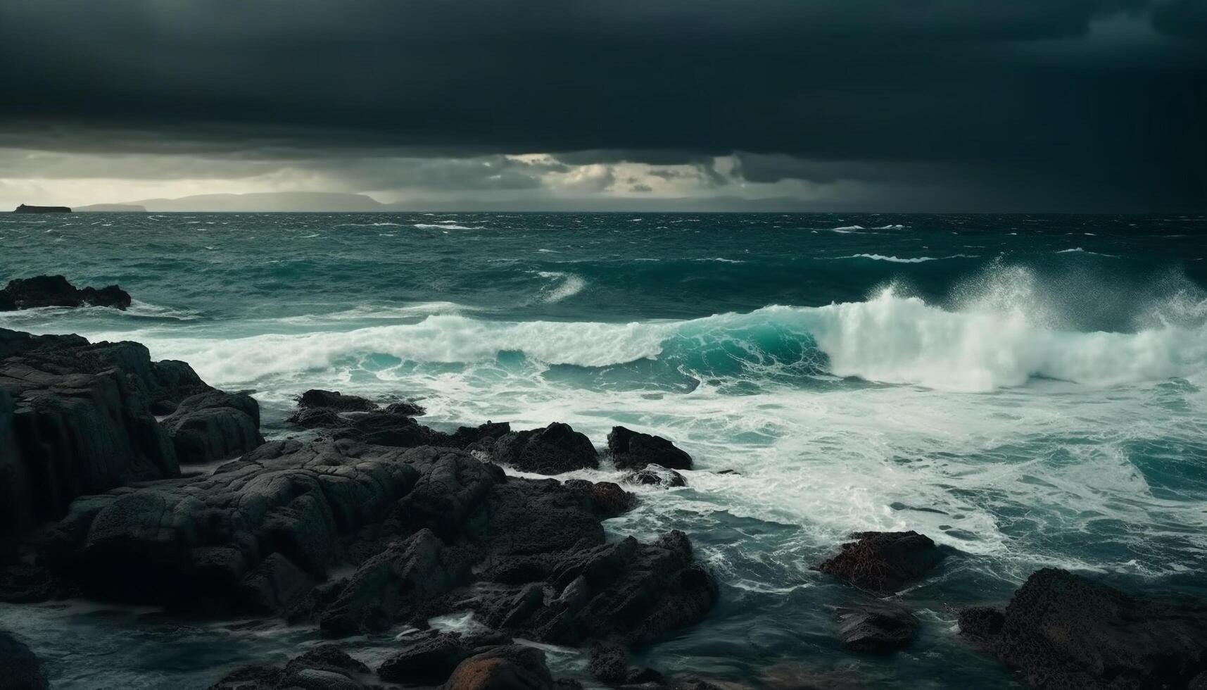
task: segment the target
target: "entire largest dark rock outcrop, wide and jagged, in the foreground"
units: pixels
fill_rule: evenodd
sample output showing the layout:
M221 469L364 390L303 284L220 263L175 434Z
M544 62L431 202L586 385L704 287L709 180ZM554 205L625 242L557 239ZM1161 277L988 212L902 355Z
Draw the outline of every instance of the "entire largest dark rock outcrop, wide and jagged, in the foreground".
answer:
M212 475L77 500L46 562L82 592L287 614L331 636L471 609L530 639L649 642L699 621L716 581L678 532L605 544L611 483L509 479L454 448L269 442ZM344 580L317 587L331 568Z

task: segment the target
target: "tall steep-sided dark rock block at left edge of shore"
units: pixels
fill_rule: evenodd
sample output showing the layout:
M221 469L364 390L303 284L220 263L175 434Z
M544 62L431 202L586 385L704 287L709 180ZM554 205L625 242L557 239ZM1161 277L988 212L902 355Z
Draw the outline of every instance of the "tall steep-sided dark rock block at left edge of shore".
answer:
M177 364L138 343L0 329L0 543L77 495L179 474L152 407L208 387Z

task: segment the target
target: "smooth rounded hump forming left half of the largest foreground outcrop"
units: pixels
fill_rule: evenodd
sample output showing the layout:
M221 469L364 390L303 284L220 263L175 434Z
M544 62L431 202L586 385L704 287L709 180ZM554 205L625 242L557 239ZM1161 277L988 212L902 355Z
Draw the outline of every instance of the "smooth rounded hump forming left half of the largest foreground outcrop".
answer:
M206 476L80 499L46 558L94 596L169 605L244 601L240 584L270 553L322 580L342 535L379 520L419 477L403 451L363 454L275 441Z

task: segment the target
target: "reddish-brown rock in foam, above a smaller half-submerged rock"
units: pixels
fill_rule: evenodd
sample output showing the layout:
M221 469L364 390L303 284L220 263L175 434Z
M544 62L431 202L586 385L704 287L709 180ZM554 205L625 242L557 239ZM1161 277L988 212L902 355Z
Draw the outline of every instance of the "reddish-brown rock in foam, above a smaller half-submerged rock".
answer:
M892 593L921 578L943 559L929 537L917 532L859 532L857 541L815 566L829 575L877 593Z

